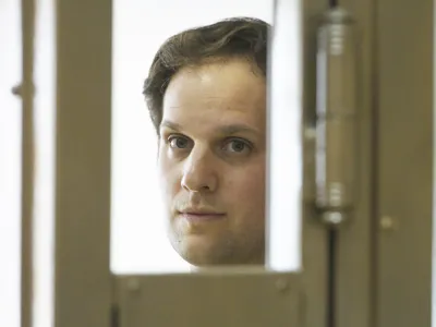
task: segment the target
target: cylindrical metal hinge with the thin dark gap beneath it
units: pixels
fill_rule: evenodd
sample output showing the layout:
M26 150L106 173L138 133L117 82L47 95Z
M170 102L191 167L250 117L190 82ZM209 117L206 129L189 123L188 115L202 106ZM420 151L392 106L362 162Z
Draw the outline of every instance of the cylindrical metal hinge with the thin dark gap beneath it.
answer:
M328 225L327 326L337 324L336 227L355 208L358 148L356 40L354 22L342 8L325 13L318 29L316 106L316 201Z

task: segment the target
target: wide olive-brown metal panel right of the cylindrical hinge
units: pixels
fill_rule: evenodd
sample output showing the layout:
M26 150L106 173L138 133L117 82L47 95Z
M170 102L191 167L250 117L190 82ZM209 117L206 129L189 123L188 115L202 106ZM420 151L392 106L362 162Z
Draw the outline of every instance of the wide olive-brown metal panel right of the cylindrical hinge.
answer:
M339 0L362 36L361 187L339 234L337 326L431 326L431 0Z

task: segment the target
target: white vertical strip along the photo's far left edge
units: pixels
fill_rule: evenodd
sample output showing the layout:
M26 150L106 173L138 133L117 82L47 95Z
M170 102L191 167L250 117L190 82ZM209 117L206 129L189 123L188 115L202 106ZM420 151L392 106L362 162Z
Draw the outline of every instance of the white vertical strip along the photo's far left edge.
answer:
M0 326L21 326L21 2L0 1Z

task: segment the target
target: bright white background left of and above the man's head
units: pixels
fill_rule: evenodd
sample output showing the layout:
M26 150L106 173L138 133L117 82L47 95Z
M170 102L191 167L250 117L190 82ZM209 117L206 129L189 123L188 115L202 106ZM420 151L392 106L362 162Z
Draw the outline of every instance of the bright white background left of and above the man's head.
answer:
M186 270L167 242L159 207L156 136L142 96L153 57L169 36L231 16L271 23L272 0L114 0L111 268Z

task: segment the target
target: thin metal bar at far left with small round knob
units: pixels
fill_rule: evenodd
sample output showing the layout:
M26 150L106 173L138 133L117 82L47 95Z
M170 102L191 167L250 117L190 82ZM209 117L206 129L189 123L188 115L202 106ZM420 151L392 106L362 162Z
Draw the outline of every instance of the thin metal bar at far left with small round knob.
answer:
M34 31L35 1L22 0L23 77L14 89L23 100L22 138L22 327L32 326L34 207Z

